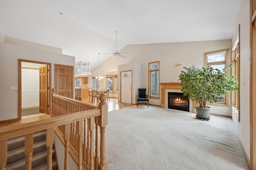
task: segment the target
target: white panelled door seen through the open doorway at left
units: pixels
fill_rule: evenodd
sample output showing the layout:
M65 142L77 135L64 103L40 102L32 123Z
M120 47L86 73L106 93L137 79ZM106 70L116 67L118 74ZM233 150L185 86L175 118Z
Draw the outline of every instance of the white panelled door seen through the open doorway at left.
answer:
M39 70L22 68L22 108L39 106Z

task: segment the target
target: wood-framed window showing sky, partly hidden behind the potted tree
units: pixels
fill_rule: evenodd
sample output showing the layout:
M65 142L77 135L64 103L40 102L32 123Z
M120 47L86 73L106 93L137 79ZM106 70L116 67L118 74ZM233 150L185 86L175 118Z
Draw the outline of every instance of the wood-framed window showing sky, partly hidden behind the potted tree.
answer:
M228 66L228 49L212 51L204 53L204 67L212 66L212 68L224 69ZM215 102L215 104L228 105L228 98L223 95L223 100Z

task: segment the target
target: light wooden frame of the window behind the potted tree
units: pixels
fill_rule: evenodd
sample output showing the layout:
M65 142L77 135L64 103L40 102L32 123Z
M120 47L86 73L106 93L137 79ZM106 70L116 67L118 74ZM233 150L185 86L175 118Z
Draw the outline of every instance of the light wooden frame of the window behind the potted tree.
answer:
M222 54L221 52L225 51L225 60L224 61L215 61L215 62L208 62L208 56L209 54L213 54L214 53L219 53ZM209 65L219 65L219 64L224 64L224 68L226 68L228 66L228 51L229 49L221 49L221 50L216 50L216 51L210 51L210 52L206 52L204 53L204 67L208 67ZM224 98L224 102L215 102L214 104L209 102L209 105L217 105L217 106L228 106L228 95L225 95Z

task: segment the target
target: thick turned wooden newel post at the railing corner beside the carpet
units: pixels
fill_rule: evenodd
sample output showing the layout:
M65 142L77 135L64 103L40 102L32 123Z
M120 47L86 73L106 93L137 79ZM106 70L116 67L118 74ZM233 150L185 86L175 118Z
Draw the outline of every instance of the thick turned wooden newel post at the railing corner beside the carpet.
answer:
M98 170L108 170L106 162L106 125L108 125L108 105L106 104L106 95L100 95L100 104L98 109L101 109L101 115L98 117L98 125L100 126L100 163Z

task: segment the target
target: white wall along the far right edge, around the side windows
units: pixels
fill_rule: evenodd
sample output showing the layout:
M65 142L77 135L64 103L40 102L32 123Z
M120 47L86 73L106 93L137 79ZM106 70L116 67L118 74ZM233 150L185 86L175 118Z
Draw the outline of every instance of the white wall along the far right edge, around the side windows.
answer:
M240 24L240 122L236 112L232 111L232 119L240 141L250 159L250 3L243 0L234 30L236 38ZM241 130L241 126L243 131Z

